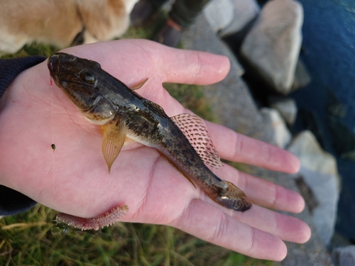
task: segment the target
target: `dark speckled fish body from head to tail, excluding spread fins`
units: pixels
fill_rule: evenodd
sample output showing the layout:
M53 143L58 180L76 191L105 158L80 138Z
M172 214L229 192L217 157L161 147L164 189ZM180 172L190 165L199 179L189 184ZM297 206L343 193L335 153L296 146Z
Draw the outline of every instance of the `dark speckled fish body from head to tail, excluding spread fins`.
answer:
M209 170L158 104L133 92L102 70L99 63L58 52L48 59L48 68L55 84L86 118L89 116L89 121L103 125L123 120L128 138L157 149L214 201L236 211L251 208L244 192Z

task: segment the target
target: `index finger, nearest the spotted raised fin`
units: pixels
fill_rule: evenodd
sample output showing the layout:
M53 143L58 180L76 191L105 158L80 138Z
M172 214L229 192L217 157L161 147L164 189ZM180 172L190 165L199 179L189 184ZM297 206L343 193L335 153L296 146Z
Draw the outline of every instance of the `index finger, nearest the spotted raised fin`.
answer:
M292 153L261 140L241 135L224 126L208 121L205 123L219 156L226 160L288 173L300 169L300 161Z

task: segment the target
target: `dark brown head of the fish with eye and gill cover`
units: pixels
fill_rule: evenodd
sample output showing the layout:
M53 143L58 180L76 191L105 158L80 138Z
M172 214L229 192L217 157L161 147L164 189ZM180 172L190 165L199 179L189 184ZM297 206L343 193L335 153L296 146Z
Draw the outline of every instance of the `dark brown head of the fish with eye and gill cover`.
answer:
M55 84L69 97L88 121L103 125L115 116L116 108L102 94L98 62L56 52L48 58L48 69Z

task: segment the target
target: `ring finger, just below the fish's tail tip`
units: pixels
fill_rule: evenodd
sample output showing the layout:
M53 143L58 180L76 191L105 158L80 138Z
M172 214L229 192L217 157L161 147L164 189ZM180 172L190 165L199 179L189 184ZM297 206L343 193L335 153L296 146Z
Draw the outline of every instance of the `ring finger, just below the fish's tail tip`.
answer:
M258 205L253 205L249 211L243 213L231 211L231 215L243 223L286 241L305 243L310 239L310 227L304 221Z

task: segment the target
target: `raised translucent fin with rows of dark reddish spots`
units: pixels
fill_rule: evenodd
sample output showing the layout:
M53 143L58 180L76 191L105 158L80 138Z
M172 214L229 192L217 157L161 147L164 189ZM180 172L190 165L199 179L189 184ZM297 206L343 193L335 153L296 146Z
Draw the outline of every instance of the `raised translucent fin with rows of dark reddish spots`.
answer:
M191 116L190 113L181 113L171 119L180 128L180 131L184 133L206 165L214 168L222 166L221 158L219 158L217 150L214 148L207 129L200 118Z

